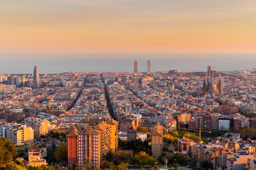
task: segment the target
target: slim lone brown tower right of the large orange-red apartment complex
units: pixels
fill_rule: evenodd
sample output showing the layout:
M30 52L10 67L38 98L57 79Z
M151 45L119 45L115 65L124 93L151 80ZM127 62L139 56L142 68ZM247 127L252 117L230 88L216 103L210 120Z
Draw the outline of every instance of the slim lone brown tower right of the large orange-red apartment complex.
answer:
M163 152L163 126L159 123L151 130L152 156L158 158Z

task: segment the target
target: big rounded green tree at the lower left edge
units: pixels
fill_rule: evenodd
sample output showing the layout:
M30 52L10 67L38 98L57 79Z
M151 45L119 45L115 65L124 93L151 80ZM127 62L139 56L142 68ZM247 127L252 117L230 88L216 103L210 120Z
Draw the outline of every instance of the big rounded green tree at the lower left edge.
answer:
M15 145L9 139L0 137L0 167L12 162L12 157L17 155Z

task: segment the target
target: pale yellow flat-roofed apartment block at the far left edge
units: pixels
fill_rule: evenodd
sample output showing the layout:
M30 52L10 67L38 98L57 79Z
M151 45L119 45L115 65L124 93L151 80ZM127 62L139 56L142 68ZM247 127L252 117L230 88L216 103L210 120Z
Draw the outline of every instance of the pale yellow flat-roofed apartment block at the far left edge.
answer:
M7 123L0 126L0 136L20 146L34 141L34 130L28 125Z

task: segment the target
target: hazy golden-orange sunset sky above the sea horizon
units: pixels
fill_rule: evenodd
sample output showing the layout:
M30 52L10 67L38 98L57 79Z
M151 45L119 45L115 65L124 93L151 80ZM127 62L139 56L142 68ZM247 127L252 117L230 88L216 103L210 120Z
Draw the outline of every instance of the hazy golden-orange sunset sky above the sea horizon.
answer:
M256 53L256 0L0 0L0 53Z

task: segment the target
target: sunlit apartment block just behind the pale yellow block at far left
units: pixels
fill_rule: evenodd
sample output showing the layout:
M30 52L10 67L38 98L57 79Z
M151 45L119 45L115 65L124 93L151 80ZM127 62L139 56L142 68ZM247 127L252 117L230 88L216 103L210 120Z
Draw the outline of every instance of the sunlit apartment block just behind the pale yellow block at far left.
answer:
M48 126L50 126L50 123L48 123L47 119L40 119L31 117L24 120L26 125L29 125L34 130L34 137L35 139L39 140L41 135L46 135L48 133Z

